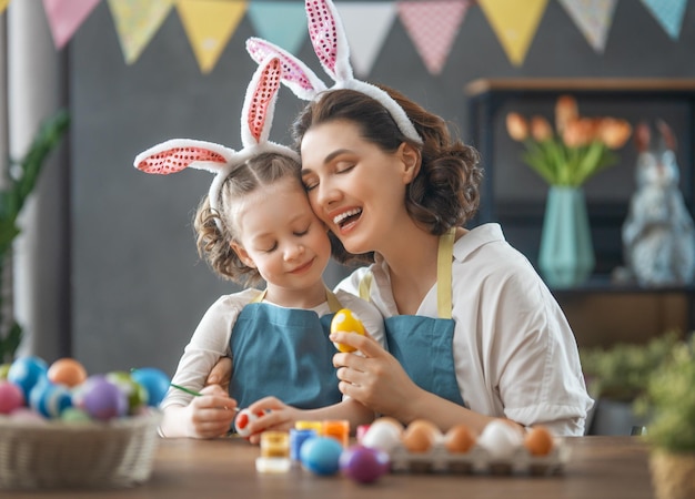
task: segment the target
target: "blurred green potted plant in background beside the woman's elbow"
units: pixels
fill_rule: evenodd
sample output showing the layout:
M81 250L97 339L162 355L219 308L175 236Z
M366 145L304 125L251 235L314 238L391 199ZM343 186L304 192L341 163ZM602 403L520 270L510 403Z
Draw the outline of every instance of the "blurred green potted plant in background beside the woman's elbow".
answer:
M646 344L581 349L587 388L596 400L587 430L628 435L632 427L643 426L645 417L635 413L633 404L645 391L651 373L671 357L679 340L679 334L667 332Z

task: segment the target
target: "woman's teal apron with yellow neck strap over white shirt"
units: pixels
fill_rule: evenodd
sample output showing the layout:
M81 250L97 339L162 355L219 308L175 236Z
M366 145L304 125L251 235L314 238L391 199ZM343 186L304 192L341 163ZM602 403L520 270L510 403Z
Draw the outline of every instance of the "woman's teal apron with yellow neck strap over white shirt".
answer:
M452 261L455 228L440 237L436 271L439 318L396 315L384 319L389 352L421 388L464 405L454 369L452 319ZM360 282L360 297L370 299L372 274Z

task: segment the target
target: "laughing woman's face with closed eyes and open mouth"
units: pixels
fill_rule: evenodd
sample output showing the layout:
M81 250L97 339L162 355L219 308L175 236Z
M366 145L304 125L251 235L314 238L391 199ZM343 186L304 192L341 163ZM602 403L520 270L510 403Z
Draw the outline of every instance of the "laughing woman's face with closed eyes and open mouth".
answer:
M389 153L364 140L356 124L332 121L306 131L301 153L311 206L350 253L379 252L392 231L412 223L405 186L420 162L406 143Z

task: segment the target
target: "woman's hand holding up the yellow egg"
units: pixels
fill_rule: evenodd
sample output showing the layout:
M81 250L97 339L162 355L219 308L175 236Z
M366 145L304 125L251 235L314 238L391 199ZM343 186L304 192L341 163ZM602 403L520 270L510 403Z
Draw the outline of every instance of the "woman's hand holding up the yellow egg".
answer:
M332 342L356 348L362 355L335 354L339 389L375 413L410 421L409 407L424 391L407 376L401 364L369 336L334 333Z

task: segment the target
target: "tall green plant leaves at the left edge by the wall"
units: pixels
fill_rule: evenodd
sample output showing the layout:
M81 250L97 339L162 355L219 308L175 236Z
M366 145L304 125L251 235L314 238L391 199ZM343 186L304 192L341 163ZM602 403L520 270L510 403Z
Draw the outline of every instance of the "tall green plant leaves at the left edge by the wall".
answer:
M12 314L12 243L20 234L17 226L24 202L33 191L43 164L61 142L70 125L67 110L46 119L37 131L27 154L9 162L0 183L0 364L10 363L19 347L22 328Z

